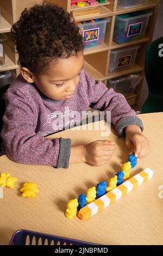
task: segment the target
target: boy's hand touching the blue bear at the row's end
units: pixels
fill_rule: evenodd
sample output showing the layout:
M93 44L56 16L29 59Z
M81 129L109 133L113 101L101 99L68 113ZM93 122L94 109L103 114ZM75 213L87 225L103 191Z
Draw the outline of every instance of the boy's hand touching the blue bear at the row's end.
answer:
M151 152L148 139L142 135L141 129L137 125L129 125L126 131L126 146L129 150L129 155L134 154L137 161L142 157L147 156Z

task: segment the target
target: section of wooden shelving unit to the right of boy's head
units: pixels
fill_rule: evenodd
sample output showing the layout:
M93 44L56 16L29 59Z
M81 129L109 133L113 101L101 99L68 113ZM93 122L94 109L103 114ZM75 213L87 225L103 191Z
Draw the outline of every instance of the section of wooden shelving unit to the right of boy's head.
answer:
M59 4L61 7L65 8L67 11L71 11L71 0L47 0L47 2L52 2L55 4ZM96 46L92 48L86 48L84 50L84 58L85 58L85 64L84 68L85 70L95 78L96 80L101 80L105 83L107 83L108 79L133 74L135 72L140 72L141 76L144 76L144 63L145 63L145 53L146 48L149 44L149 42L152 41L155 21L156 21L156 15L159 8L159 0L148 0L147 3L134 7L129 9L120 9L117 8L117 2L118 0L108 0L110 4L101 4L100 6L100 14L97 15L83 15L83 16L77 16L75 17L75 21L83 21L83 20L90 20L90 19L97 19L102 17L109 17L110 22L106 26L106 33L105 33L105 40L104 44L101 46ZM86 9L87 7L85 7ZM82 9L82 8L81 8ZM84 8L83 8L84 9ZM117 44L115 41L112 40L113 33L114 33L114 25L115 25L115 16L119 14L125 14L125 13L131 13L134 11L139 10L146 10L151 9L153 12L153 15L149 19L149 24L147 28L146 36L143 39L140 40L134 40L131 42L127 42L125 44ZM138 50L136 62L135 65L132 68L128 68L125 70L115 71L115 72L108 72L108 67L110 63L110 51L127 47L131 45L141 44L141 48ZM98 59L98 62L97 62ZM139 103L140 94L141 94L141 88L142 88L143 81L140 82L140 84L137 86L135 93L133 94L126 94L127 101L130 105L137 105Z

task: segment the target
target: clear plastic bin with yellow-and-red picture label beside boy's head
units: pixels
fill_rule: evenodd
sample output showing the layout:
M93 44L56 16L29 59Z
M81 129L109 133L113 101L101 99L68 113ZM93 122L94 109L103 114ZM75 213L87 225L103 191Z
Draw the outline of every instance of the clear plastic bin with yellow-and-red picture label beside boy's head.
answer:
M103 44L106 31L106 23L109 18L95 19L93 22L85 21L78 25L80 33L83 35L85 48L94 47Z

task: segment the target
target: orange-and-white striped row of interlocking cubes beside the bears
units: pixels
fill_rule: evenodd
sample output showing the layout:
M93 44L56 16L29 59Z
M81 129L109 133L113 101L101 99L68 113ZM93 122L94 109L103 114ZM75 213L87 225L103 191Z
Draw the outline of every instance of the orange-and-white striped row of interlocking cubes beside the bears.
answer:
M127 193L134 190L136 187L151 179L153 173L153 170L150 168L142 170L142 172L136 174L133 176L133 178L130 178L129 180L123 182L123 184L104 194L104 196L84 206L84 208L80 209L78 212L78 217L81 220L87 220L91 216L97 214L97 212L102 211L107 206L116 202L116 200L120 199L122 196L125 196Z

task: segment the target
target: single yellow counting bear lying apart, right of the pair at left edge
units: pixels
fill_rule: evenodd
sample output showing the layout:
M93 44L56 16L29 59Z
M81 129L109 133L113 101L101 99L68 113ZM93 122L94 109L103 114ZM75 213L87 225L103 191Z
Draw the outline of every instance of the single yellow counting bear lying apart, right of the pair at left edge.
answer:
M36 183L26 182L20 190L22 192L22 197L36 197L39 192Z

